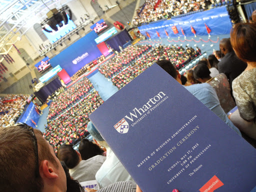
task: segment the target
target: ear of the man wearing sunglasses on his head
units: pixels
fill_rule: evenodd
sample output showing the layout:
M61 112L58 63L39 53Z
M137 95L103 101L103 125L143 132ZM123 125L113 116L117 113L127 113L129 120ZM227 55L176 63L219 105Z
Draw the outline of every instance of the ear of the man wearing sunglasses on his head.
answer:
M52 163L49 163L48 160L43 160L40 164L40 176L42 178L55 179L58 177L58 174L55 172L56 168L53 167Z

